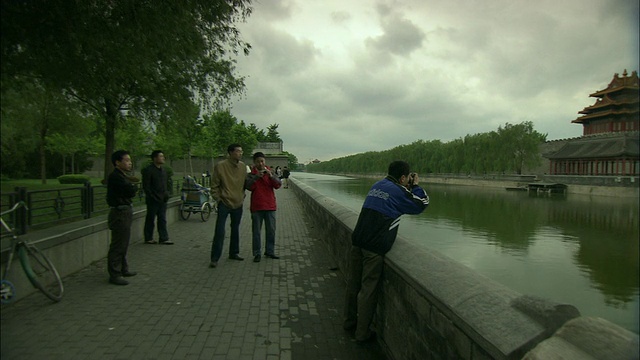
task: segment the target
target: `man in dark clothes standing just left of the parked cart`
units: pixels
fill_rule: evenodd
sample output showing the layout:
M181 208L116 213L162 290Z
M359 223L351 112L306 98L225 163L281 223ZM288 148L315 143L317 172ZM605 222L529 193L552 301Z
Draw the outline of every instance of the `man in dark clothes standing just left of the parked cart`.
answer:
M164 154L162 150L154 150L151 153L152 164L142 170L142 187L145 193L147 204L147 216L144 219L144 242L145 244L157 244L153 240L153 225L158 217L158 238L160 244L173 245L169 241L167 231L167 201L169 201L169 190L167 189L167 171L164 165Z

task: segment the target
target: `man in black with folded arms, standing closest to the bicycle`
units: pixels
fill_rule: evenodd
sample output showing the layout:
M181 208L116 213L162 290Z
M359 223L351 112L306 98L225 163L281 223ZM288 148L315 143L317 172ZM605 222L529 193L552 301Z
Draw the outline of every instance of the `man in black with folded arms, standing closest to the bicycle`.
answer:
M118 150L111 155L114 170L107 178L107 204L109 204L109 230L111 230L111 244L107 255L109 282L115 285L127 285L123 278L135 276L129 271L127 250L131 238L131 221L133 207L131 199L136 195L138 187L135 183L140 180L129 177L132 162L129 153Z

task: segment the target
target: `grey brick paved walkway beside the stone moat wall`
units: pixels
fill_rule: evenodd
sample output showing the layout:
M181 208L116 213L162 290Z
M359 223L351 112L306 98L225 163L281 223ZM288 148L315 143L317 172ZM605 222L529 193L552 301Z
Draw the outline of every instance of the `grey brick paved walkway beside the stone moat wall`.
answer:
M215 218L192 216L170 226L173 246L130 246L138 276L128 286L108 284L102 260L64 279L60 303L36 293L3 305L0 357L384 359L377 344L358 345L342 330L342 275L293 192L276 194L279 260L252 262L248 198L242 262L223 256L208 268Z

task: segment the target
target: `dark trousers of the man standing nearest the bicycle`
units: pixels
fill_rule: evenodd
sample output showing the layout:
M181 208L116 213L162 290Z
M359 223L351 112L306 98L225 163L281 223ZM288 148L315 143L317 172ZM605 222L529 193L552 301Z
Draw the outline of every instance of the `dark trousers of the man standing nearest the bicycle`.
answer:
M111 278L122 276L122 273L129 271L127 249L131 238L132 219L133 208L129 205L120 205L109 210L111 245L107 255L107 269Z

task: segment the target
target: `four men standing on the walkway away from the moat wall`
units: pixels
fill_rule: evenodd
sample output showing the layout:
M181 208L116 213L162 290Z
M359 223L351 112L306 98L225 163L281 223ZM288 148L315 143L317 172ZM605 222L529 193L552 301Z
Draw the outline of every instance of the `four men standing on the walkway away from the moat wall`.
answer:
M253 261L260 262L261 229L264 223L266 244L264 256L279 259L275 253L276 234L276 197L274 190L282 186L282 180L288 182L289 169L285 166L280 174L266 165L266 156L262 152L253 154L253 166L247 170L242 162L243 150L240 144L231 144L227 148L228 158L217 163L211 179L211 191L218 202L218 214L211 246L210 267L217 267L222 255L225 237L225 223L231 218L231 241L229 259L244 260L240 256L240 221L245 198L245 190L251 191L251 222ZM144 243L173 245L167 231L167 202L169 189L167 172L162 150L151 153L151 164L142 170L142 188L145 193L147 214L144 224ZM127 249L131 237L133 216L132 198L136 195L139 180L129 176L132 168L131 156L127 151L113 153L111 161L113 172L107 179L107 203L109 204L109 229L111 244L108 252L109 282L127 285L125 277L135 276L127 263ZM247 171L249 171L247 173ZM153 239L157 219L158 241Z

